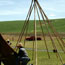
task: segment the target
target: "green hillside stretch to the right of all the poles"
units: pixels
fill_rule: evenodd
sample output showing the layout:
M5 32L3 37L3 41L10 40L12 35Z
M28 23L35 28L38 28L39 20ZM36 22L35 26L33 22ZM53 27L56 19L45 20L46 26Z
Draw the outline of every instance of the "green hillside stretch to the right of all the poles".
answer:
M65 32L65 19L57 19L55 22L52 22L52 24L55 27L56 31Z

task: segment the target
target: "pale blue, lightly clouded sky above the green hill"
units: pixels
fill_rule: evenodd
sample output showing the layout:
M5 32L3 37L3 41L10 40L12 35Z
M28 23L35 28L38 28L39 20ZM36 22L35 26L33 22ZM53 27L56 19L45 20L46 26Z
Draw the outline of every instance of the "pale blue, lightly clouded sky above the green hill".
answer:
M65 0L38 1L49 19L65 18ZM31 0L0 0L0 21L25 20L30 4Z

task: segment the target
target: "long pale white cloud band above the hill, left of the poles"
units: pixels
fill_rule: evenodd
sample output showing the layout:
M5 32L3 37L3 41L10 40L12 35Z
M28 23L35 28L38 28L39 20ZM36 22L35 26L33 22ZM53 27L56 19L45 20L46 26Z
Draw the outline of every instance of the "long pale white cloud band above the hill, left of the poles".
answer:
M15 10L1 10L0 16L6 16L6 15L21 15L25 14L27 11L25 9L15 9Z

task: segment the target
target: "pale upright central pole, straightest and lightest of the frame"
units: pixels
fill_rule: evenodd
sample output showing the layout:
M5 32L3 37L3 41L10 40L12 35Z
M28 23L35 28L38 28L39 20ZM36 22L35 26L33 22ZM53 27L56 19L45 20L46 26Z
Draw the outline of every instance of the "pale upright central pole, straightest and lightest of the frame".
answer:
M35 65L37 65L36 0L34 0Z

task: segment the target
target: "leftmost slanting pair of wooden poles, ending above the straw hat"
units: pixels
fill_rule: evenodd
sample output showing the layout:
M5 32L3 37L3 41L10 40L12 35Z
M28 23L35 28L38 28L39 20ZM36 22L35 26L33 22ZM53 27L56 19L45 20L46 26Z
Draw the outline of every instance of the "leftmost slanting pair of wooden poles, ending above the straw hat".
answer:
M28 11L26 20L25 20L25 22L24 22L24 25L23 25L23 27L22 27L22 30L21 30L21 33L20 33L20 35L19 35L19 38L18 38L18 40L17 40L16 45L21 41L22 36L24 35L24 31L25 31L25 28L26 28L26 26L27 26L27 22L29 21L29 18L30 18L30 16L31 16L31 12L32 12L32 9L33 9L33 6L32 6L32 5L33 5L33 0L32 0L32 2L31 2L31 5L30 5L30 8L29 8L29 11Z

